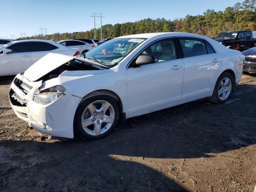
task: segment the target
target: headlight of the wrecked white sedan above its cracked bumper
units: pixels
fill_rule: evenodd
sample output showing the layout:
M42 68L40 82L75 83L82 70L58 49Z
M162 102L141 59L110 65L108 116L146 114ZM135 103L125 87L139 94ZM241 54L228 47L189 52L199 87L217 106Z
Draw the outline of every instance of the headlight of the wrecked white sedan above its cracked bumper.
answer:
M34 95L34 101L43 105L50 104L55 100L57 100L60 96L62 96L65 90L66 89L61 85L57 85L57 86L42 90L39 94L38 94L39 92L38 90Z

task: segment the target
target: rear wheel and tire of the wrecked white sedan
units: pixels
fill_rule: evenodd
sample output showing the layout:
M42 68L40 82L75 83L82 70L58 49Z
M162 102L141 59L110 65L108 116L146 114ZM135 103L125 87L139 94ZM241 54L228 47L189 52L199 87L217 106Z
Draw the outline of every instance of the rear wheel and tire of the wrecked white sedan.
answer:
M209 100L213 103L224 103L228 100L234 90L234 80L229 73L222 73L214 87L214 91Z

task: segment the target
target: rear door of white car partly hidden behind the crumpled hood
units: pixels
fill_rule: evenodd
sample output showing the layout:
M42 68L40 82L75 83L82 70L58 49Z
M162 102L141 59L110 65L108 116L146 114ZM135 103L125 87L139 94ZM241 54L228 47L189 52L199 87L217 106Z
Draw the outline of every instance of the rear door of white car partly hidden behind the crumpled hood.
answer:
M34 41L32 45L32 64L48 53L60 53L57 46L47 42Z

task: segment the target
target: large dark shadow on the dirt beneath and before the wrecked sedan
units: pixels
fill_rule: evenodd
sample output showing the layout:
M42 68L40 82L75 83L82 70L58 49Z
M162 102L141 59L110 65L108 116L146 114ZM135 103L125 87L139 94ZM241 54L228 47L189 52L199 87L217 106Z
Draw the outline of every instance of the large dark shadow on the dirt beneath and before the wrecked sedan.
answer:
M256 143L256 86L235 93L226 104L202 99L128 119L101 140L1 141L2 191L186 191L155 169L158 160L168 166L169 158L210 158Z

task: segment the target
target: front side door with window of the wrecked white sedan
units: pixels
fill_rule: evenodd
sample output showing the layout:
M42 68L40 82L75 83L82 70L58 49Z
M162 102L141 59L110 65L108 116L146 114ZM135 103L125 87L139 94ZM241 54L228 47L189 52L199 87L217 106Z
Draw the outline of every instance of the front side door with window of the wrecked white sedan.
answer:
M140 55L152 56L156 62L127 68L129 114L180 101L184 64L174 38L154 42Z

